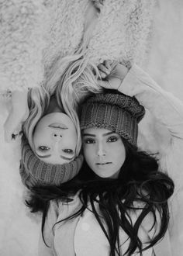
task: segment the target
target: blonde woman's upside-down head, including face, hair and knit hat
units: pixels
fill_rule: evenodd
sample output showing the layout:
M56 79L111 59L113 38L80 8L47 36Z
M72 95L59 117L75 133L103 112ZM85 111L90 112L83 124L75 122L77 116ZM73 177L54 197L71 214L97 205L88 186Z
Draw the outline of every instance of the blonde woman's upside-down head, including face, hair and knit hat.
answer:
M29 116L22 125L20 174L29 189L60 185L81 168L78 103L91 92L98 92L99 87L93 68L87 66L78 72L77 61L73 64L56 86L28 92Z

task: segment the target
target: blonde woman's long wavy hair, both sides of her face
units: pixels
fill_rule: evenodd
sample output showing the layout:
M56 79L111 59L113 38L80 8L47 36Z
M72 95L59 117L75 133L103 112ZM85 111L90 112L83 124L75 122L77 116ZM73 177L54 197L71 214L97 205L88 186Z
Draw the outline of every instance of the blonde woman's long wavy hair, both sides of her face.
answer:
M78 119L78 106L86 96L92 92L101 92L98 86L98 68L90 64L83 54L59 59L47 74L47 81L40 88L32 88L29 91L29 117L23 125L23 131L29 141L30 147L33 145L33 131L36 124L47 112L51 95L55 95L60 109L71 118L77 132L76 156L81 150L81 133Z

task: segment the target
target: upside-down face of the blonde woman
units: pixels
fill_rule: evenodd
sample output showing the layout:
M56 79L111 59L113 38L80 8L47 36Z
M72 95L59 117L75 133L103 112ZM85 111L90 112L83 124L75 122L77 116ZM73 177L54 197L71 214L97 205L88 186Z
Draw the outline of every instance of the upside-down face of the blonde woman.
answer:
M74 160L77 133L72 120L62 112L43 116L33 133L37 157L50 164Z

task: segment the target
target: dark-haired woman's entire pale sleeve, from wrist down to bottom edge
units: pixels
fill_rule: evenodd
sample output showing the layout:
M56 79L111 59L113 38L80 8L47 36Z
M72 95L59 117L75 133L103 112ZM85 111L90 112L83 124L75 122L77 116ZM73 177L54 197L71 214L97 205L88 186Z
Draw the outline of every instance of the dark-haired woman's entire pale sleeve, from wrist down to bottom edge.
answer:
M119 92L135 96L155 116L157 122L167 128L170 134L167 150L160 159L160 167L174 181L168 230L171 253L174 256L180 255L180 251L183 251L183 103L170 92L164 91L136 65L129 70Z

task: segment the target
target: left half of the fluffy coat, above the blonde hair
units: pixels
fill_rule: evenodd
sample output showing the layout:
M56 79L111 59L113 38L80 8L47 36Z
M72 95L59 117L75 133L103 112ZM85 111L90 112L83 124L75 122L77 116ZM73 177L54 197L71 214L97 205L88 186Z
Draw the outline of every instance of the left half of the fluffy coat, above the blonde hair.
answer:
M89 0L0 2L1 92L32 88L57 57L73 54Z

